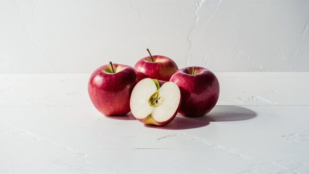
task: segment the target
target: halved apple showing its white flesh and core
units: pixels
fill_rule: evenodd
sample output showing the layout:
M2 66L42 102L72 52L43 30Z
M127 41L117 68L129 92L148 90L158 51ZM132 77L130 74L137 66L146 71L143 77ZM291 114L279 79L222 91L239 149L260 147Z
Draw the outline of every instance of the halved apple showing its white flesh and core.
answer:
M138 121L164 126L175 118L180 102L180 89L175 83L165 82L160 87L157 80L146 78L133 88L130 108Z

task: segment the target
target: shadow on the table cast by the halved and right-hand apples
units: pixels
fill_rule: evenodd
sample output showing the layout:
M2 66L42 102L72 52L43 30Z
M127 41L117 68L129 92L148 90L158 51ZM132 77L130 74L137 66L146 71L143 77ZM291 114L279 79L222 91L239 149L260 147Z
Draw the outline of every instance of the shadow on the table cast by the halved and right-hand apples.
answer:
M256 117L256 112L241 106L215 106L215 108L205 116L184 117L177 115L168 125L163 127L145 125L148 128L164 130L187 130L207 126L210 122L231 122L249 120Z

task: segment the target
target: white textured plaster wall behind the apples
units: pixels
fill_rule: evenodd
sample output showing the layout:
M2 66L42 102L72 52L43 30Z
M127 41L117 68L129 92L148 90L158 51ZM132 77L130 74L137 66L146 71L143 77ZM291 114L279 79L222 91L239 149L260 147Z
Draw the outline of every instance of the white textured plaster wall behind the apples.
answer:
M0 0L0 73L91 73L153 54L213 71L309 71L309 0Z

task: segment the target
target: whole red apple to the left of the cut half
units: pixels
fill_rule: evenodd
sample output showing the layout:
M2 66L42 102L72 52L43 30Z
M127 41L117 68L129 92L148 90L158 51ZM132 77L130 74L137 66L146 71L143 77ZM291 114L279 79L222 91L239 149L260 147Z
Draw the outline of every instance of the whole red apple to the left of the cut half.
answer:
M88 93L93 105L106 116L130 112L131 92L139 82L138 73L132 67L116 63L113 63L113 67L122 70L109 73L106 70L111 65L103 65L92 73L88 82Z

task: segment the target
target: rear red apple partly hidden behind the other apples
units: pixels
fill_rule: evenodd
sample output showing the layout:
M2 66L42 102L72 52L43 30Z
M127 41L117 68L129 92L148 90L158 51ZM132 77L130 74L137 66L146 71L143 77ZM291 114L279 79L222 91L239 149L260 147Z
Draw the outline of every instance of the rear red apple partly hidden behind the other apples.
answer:
M153 59L154 62L150 56L147 56L135 64L134 69L138 72L140 79L151 78L168 81L178 70L176 63L168 57L154 55Z

